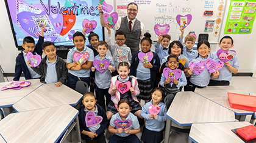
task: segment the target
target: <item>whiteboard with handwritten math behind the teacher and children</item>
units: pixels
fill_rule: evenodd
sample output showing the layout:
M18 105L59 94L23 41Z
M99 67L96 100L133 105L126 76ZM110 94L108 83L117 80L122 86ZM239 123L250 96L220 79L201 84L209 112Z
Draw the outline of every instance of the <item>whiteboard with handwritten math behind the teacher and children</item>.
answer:
M121 7L121 5L124 6L129 2L132 1L116 0L116 12L124 16L126 7ZM154 32L155 24L169 24L170 30L168 34L171 35L171 41L178 40L181 32L178 22L176 21L176 16L185 16L187 14L191 14L192 19L190 24L185 27L184 37L187 36L189 32L195 32L197 41L199 34L208 33L209 42L214 43L219 40L219 30L221 29L223 21L222 17L226 7L226 0L138 0L133 2L138 4L137 19L143 22L146 27L146 32L151 33L153 41L157 41L158 39L158 36ZM218 10L219 5L222 5L220 11ZM213 15L205 16L205 10L213 11ZM218 18L221 19L221 22L216 24L216 19ZM208 30L212 30L212 32L205 32L206 21L214 21L213 28L208 28ZM213 33L216 34L213 35Z

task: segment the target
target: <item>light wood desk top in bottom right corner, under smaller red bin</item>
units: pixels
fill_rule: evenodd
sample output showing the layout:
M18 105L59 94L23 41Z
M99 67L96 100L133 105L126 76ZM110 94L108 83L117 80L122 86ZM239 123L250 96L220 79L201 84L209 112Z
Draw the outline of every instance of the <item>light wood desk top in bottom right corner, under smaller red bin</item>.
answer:
M251 125L249 122L221 122L192 124L189 138L193 142L236 142L244 143L231 131L234 128L241 128Z

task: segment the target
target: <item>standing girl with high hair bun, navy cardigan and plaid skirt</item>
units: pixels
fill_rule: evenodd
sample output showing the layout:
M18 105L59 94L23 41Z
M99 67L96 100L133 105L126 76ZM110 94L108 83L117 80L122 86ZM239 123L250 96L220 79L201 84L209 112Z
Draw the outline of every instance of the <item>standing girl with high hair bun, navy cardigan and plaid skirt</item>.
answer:
M144 38L141 40L141 52L151 52L152 45L151 35L149 33L144 34ZM151 98L150 93L154 87L154 82L157 76L157 71L160 67L160 61L155 52L153 53L153 59L148 63L143 63L138 58L140 52L132 55L132 65L130 65L130 75L138 78L138 86L140 88L139 99L143 99L146 102Z

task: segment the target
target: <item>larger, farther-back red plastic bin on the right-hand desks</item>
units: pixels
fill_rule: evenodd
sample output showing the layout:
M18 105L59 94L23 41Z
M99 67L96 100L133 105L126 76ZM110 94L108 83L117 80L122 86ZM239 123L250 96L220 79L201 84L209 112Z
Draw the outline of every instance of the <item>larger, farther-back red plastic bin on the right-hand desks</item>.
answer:
M231 108L256 111L256 96L241 95L230 92L228 92L227 95L229 95L229 104Z

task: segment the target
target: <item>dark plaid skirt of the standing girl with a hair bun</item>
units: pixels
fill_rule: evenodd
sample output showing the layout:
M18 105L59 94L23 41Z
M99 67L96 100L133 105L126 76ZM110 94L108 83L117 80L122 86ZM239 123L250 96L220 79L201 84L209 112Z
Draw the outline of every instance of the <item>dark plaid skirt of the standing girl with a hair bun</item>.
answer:
M137 96L138 99L143 100L150 100L151 99L151 79L147 80L139 80L138 81L138 87L140 88L140 95Z

